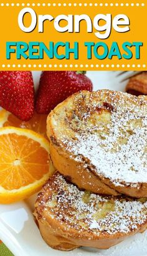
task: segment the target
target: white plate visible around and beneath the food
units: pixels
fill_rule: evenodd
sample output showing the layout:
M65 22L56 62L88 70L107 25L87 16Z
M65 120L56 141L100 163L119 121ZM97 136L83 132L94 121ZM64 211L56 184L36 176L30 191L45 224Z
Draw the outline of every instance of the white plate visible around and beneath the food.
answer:
M39 82L40 72L33 72L34 82ZM125 82L118 83L116 73L91 71L87 75L92 79L94 90L108 88L124 91ZM12 205L0 205L0 239L15 256L145 256L147 255L147 232L136 234L108 250L79 248L71 252L61 252L50 248L34 223L32 211L36 195L24 202ZM2 256L2 255L1 255Z

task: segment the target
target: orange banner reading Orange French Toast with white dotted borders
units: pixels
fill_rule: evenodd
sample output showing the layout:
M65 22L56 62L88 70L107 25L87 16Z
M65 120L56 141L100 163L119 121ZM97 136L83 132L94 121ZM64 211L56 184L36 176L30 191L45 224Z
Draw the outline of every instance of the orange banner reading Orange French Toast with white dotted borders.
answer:
M143 1L4 1L1 70L146 70Z

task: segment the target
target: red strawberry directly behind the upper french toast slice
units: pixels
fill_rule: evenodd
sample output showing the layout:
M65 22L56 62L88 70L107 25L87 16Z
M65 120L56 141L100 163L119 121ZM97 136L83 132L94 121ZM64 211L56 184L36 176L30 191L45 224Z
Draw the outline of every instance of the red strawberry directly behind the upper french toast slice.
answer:
M84 71L44 71L37 91L36 111L48 114L73 93L92 88L92 81Z

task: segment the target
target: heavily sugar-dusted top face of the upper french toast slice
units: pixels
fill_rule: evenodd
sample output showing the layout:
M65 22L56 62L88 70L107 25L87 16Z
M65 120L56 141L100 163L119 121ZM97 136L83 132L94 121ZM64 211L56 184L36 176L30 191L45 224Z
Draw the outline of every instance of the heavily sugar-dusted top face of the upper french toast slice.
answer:
M105 103L98 102L97 96L105 98ZM73 140L62 135L62 143L71 158L83 161L85 168L109 178L116 186L146 183L147 101L113 91L101 91L97 96L91 93L88 100L83 99L85 108L78 96L73 118L77 128L81 123L83 126L74 130ZM73 128L71 123L69 129Z

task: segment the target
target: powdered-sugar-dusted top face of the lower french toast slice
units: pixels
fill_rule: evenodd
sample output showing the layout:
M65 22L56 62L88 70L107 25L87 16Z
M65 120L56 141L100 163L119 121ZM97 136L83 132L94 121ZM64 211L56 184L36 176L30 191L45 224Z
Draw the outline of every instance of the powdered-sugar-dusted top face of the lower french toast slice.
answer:
M41 210L39 210L41 209ZM78 190L56 172L38 195L37 212L43 220L54 218L65 230L75 228L93 234L129 233L147 221L145 199L102 197Z

